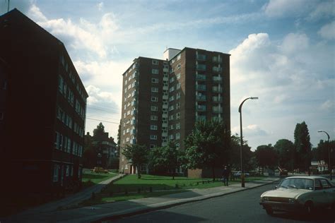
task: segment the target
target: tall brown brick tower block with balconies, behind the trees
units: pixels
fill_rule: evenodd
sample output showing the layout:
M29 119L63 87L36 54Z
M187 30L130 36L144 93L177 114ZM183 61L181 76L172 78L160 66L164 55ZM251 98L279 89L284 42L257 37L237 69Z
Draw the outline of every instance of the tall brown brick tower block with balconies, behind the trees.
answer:
M200 120L221 119L230 130L230 54L185 47L164 59L139 57L123 74L120 170L134 173L122 147L155 147L184 138Z

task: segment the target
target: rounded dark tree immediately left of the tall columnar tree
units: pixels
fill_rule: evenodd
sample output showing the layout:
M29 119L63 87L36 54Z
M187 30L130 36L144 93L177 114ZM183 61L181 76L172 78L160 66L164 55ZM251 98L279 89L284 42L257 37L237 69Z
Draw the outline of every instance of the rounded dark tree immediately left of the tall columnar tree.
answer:
M295 146L290 140L281 139L274 145L274 150L278 155L278 164L285 169L294 169L294 161L296 157Z

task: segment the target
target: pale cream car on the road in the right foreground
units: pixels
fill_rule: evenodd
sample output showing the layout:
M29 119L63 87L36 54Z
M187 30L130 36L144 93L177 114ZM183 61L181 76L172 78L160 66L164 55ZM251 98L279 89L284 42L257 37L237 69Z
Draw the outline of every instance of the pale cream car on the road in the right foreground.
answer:
M274 211L311 214L316 208L328 207L335 211L335 186L321 176L290 176L276 189L262 193L259 205L269 215Z

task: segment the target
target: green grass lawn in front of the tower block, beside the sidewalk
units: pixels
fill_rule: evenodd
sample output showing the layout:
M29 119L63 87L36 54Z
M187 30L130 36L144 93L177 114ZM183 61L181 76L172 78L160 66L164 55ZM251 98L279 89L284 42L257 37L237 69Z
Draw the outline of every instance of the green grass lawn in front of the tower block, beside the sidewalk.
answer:
M138 198L158 197L170 193L181 193L191 188L213 188L223 186L222 181L212 179L192 179L183 176L153 176L142 174L141 179L137 175L128 175L119 181L107 185L102 193L95 195L94 200L85 200L80 205L95 205L119 200L131 200ZM264 179L262 176L247 177L247 181ZM231 184L240 183L240 179L230 181ZM152 190L152 192L149 192Z

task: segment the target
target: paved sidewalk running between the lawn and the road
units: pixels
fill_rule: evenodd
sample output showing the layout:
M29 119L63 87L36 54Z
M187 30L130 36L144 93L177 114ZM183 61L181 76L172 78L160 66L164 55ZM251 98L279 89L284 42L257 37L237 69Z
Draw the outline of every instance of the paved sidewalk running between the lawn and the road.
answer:
M110 179L112 180L112 179ZM125 200L114 203L105 203L90 207L77 207L69 210L56 210L57 205L70 205L74 201L78 202L78 198L59 201L59 203L47 204L45 208L35 208L19 215L1 219L2 222L94 222L101 219L117 219L119 217L136 215L152 210L160 210L175 205L190 203L199 200L206 200L218 196L237 193L251 188L263 186L265 184L278 181L279 178L266 178L261 181L252 181L245 183L245 188L240 186L240 183L230 186L220 186L216 188L192 189L184 193L175 193L164 195L155 198L141 198L136 200ZM101 187L102 188L102 187ZM100 190L101 190L100 188ZM81 196L80 199L87 199L93 191L90 191L86 196ZM69 202L71 200L71 202ZM57 206L57 207L59 207ZM57 208L56 207L56 208Z

